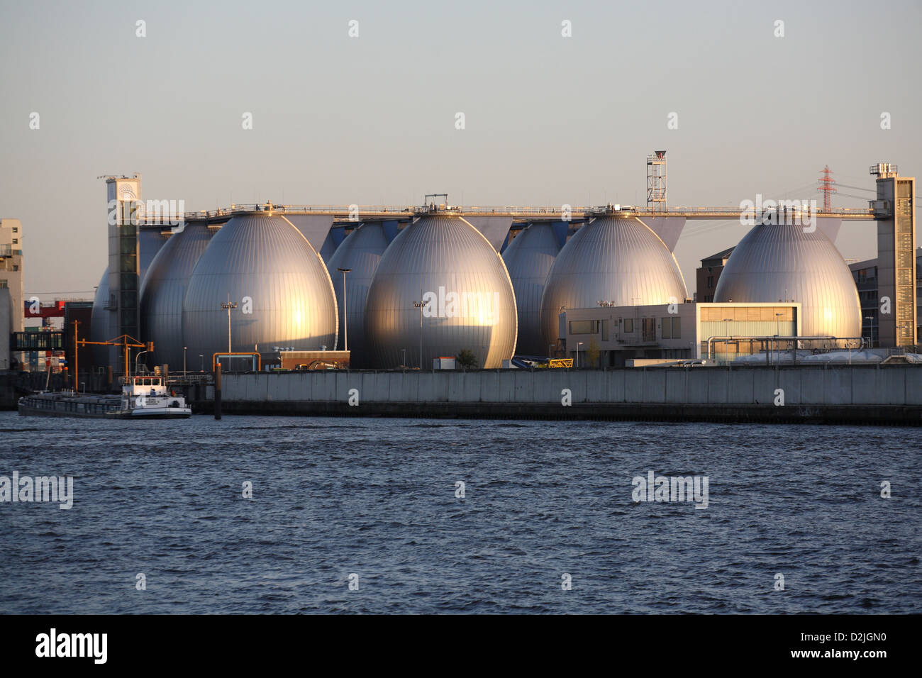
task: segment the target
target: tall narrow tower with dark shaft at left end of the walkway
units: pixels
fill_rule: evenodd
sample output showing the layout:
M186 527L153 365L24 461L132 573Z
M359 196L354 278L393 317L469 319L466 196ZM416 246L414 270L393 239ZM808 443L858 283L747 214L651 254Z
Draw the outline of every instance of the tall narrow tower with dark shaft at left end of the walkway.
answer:
M127 334L138 338L138 206L141 175L107 176L106 194L109 224L109 337ZM124 364L121 349L109 348L109 364L118 370Z

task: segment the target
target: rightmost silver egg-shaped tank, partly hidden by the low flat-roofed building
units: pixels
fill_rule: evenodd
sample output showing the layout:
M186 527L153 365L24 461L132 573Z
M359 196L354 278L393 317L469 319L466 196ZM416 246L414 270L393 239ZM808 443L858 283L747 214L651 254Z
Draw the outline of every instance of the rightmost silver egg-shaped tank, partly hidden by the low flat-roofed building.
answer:
M802 304L804 336L861 336L855 279L829 238L793 224L755 226L730 255L714 301L786 300Z

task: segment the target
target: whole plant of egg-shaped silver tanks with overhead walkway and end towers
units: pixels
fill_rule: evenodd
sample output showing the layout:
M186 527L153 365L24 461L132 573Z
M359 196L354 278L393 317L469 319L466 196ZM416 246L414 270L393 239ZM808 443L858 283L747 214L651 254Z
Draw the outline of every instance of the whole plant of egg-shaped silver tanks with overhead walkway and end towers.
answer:
M842 220L864 220L877 222L874 278L892 299L881 344L915 341L906 327L916 326L916 298L908 308L905 289L916 278L906 257L913 179L872 166L869 208L826 206L814 229L774 208L703 261L695 303L673 255L686 220L745 222L744 210L667 207L665 155L647 159L647 208L459 208L447 196L421 207L267 202L186 213L178 227L138 219L139 175L107 177L117 208L91 338L153 341L144 361L173 372L226 353L258 352L268 367L286 351L346 351L332 362L429 369L461 351L500 367L514 354L574 356L590 344L611 365L723 362L777 348L774 337L851 346L865 334L868 300L833 239ZM120 350L104 347L97 363L120 364Z

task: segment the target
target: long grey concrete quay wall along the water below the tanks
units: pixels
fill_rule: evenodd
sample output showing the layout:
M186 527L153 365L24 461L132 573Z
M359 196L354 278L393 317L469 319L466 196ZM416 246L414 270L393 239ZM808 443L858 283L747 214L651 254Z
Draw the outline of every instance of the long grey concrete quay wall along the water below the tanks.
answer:
M211 405L201 389L197 411ZM225 413L922 424L922 366L347 371L223 376Z

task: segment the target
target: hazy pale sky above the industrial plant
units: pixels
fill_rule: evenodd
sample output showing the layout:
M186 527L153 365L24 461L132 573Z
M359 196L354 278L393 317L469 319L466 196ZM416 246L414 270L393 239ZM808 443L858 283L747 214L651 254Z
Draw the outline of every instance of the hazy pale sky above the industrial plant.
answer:
M644 205L655 149L674 206L816 196L827 163L868 188L877 161L922 175L917 1L0 3L0 216L23 223L27 295L91 294L105 173L195 209ZM743 234L689 223L690 293ZM836 244L876 256L873 222Z

